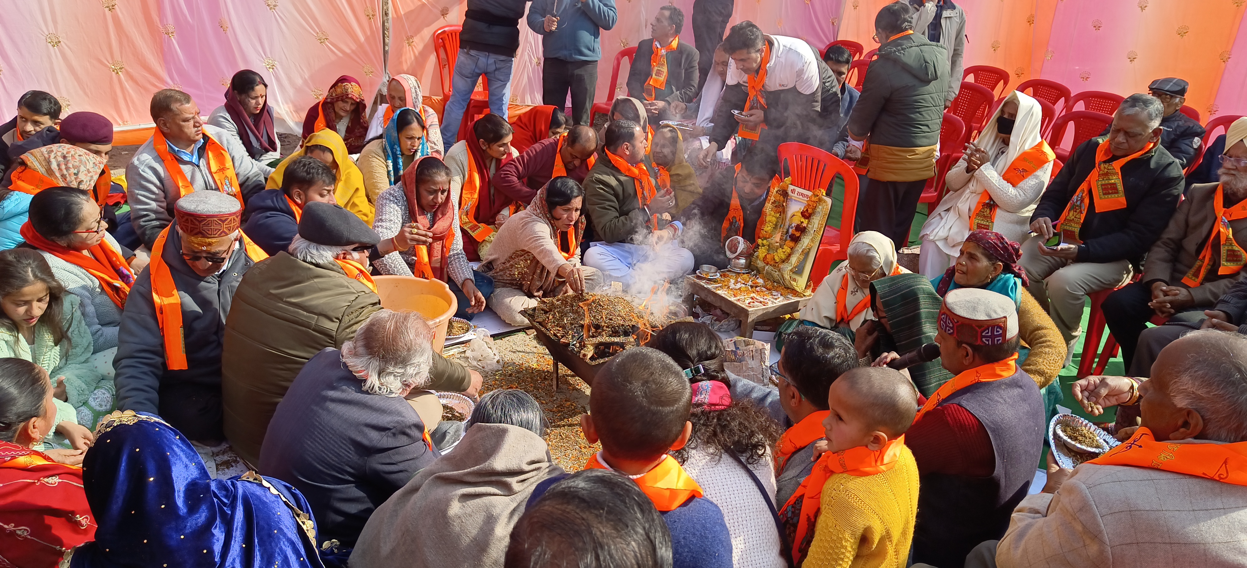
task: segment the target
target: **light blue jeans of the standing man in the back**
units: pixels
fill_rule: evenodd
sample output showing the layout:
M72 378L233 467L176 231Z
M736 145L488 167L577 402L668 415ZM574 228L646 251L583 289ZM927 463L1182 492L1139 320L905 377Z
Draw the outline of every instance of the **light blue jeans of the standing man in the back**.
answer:
M446 101L446 110L441 116L441 142L445 151L455 144L459 136L459 123L468 111L468 100L471 98L473 90L476 88L476 80L481 75L489 82L489 112L506 118L506 105L511 100L511 64L515 57L486 54L475 50L459 50L459 59L455 60L455 76L450 83L450 100Z

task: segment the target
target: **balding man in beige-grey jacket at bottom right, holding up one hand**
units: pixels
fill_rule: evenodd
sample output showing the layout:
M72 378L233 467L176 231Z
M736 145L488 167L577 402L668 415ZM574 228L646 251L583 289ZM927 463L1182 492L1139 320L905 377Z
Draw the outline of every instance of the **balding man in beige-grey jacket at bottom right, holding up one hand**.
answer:
M1243 361L1242 335L1193 331L1160 353L1146 381L1075 382L1074 397L1090 414L1137 405L1141 425L1119 432L1125 443L1072 472L1049 457L1042 492L1018 504L999 547L989 541L980 549L1001 567L1242 564Z

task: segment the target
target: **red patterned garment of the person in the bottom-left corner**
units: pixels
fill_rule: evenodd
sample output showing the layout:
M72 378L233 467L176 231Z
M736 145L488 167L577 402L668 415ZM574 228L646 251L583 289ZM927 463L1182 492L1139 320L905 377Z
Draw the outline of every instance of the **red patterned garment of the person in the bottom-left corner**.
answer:
M0 442L0 564L57 566L95 528L81 467Z

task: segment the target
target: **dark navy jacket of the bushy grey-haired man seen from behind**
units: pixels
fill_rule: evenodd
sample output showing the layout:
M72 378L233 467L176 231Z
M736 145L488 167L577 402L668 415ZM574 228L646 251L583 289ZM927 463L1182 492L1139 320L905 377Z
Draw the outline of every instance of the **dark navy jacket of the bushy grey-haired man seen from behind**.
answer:
M423 436L407 399L364 391L342 353L324 349L277 405L259 471L307 497L322 542L350 548L373 511L438 458Z

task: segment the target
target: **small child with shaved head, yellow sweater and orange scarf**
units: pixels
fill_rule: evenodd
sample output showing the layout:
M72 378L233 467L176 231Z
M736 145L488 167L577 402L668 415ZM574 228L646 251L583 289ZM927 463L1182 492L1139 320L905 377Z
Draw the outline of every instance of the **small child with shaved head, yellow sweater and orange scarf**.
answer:
M918 514L918 465L905 447L918 394L899 371L854 369L832 384L828 451L802 499L793 561L806 568L905 566Z

